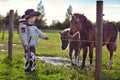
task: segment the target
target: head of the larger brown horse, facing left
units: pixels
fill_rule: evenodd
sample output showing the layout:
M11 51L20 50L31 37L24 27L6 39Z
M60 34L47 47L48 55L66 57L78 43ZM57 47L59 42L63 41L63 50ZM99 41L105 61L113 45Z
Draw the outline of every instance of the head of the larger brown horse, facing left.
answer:
M83 22L86 20L86 17L83 14L74 13L70 21L70 34L73 35L77 31L81 31L83 28Z

